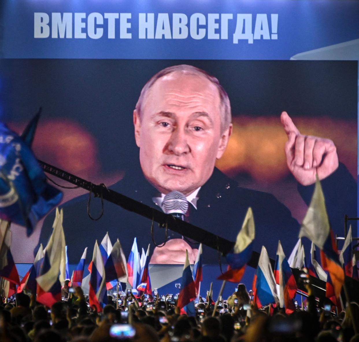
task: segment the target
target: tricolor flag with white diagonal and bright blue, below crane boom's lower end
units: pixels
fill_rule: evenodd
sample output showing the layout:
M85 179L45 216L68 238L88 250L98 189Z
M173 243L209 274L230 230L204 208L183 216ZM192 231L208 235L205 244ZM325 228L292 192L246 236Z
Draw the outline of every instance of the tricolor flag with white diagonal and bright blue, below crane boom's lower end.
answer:
M262 246L252 288L253 302L257 304L257 307L278 302L274 274L264 246Z

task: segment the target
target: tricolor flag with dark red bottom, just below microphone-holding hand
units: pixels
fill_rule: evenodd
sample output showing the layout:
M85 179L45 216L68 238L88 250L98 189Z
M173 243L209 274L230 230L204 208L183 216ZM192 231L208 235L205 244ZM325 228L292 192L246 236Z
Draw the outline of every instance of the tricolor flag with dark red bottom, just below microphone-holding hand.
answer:
M182 273L182 281L181 281L181 291L178 295L177 306L182 309L192 301L196 299L196 286L193 280L190 260L188 259L188 252L186 250L186 261L185 265L183 266L183 273ZM194 307L194 305L193 305ZM189 306L191 312L186 311L187 314L192 314L192 305Z

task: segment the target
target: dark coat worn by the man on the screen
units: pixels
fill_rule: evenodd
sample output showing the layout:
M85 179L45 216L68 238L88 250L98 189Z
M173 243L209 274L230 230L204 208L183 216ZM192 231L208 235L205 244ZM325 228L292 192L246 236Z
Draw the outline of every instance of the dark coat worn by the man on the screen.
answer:
M331 224L334 231L342 235L344 214L356 216L356 182L344 165L340 164L334 174L322 181L322 187ZM313 186L298 188L307 203L310 201L313 188ZM152 197L159 194L146 181L140 169L126 174L121 181L113 184L111 189L156 208ZM78 263L85 247L89 248L87 259L90 260L95 239L101 243L107 231L112 243L117 238L120 239L126 257L130 253L134 237L137 237L139 249L143 247L146 250L148 243L151 243L151 252L153 251L155 246L150 236L149 219L105 201L103 217L93 221L87 214L87 202L88 195L83 195L63 205L63 226L69 263ZM236 181L216 168L200 189L197 210L190 205L188 220L209 232L235 241L249 206L253 210L256 227L254 250L260 252L261 246L265 245L270 257L275 259L278 240L280 240L286 256L289 257L297 242L300 227L289 209L269 193L238 186ZM99 199L92 200L90 212L93 217L97 217L101 212ZM52 212L43 224L39 243L42 242L44 246L50 236L53 219ZM159 228L157 224L155 224L154 237L158 244L164 241L164 229ZM172 233L171 237L176 238L179 235ZM309 250L308 247L306 250ZM203 257L204 263L218 263L218 252L209 247L204 246Z

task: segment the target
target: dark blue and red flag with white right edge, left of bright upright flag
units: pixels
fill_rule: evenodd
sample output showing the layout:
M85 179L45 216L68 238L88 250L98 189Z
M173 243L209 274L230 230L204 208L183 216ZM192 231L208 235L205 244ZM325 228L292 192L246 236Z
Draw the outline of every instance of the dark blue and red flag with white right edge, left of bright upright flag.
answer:
M115 242L115 245L113 245L112 247L111 254L107 258L105 265L105 274L106 283L126 283L128 280L125 254L123 254L121 243L118 239Z

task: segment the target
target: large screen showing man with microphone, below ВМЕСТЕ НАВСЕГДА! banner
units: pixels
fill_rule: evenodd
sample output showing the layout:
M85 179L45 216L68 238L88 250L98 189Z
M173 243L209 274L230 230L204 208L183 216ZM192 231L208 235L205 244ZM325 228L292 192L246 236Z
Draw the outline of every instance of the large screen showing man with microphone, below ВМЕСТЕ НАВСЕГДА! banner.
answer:
M221 88L194 68L175 69L149 87L134 119L146 82L182 64ZM278 240L286 255L294 247L316 170L334 232L343 236L344 215L356 216L356 61L6 59L0 77L3 119L15 132L42 107L38 159L158 210L164 195L180 190L184 219L230 241L251 207L254 250L265 245L272 258ZM293 123L285 114L281 122L283 111ZM154 224L151 236L151 220L106 201L93 220L88 210L98 218L100 199L88 205L87 191L50 178L69 187L61 207L70 263L106 232L126 256L136 237L139 248L150 244L152 263L183 263L185 249L194 261L196 241L169 231L155 248L165 229ZM52 212L29 238L12 225L17 263L33 261L53 219ZM216 250L204 247L203 256L218 263Z

